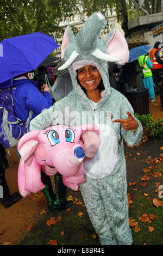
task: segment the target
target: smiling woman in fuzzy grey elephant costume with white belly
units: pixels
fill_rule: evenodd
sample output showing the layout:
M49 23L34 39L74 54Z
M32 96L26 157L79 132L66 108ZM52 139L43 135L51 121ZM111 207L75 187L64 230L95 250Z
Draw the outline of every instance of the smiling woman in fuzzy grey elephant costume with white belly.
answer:
M80 184L90 220L102 245L131 245L128 221L126 161L123 139L129 145L141 141L142 125L124 95L110 87L108 61L124 64L129 51L123 35L112 29L98 38L106 20L92 14L75 37L67 27L61 58L68 68L73 90L30 123L30 131L51 125L95 124L100 145L95 157L84 159L85 182Z

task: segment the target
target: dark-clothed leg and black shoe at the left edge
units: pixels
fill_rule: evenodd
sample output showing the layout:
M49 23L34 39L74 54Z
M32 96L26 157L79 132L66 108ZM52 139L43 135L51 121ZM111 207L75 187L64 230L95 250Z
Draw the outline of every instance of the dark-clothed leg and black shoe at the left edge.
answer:
M7 180L5 179L5 169L9 168L6 155L5 149L0 144L0 203L4 208L10 208L11 205L21 199L21 195L18 192L10 194Z

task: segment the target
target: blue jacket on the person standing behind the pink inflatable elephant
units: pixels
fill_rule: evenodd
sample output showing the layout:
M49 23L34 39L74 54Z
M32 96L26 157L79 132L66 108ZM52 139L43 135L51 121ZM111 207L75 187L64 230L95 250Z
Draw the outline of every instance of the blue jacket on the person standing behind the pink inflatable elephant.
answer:
M5 84L3 87L10 86L10 80L3 84ZM16 117L21 119L23 124L26 124L30 110L33 111L33 119L41 113L42 109L52 106L53 100L51 95L48 92L41 94L36 85L35 82L27 78L13 81L12 98L14 101L14 111Z

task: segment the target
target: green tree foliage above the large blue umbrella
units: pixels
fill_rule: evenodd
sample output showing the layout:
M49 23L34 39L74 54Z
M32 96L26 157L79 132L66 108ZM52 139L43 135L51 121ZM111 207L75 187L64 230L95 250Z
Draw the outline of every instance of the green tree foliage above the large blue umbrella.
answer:
M41 32L60 36L61 21L71 19L77 0L3 0L0 1L0 40Z

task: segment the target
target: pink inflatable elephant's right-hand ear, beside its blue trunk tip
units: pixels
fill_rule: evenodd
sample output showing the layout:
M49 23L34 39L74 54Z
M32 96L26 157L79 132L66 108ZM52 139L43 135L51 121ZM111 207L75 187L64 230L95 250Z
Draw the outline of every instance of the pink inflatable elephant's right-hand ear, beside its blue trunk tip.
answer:
M86 157L94 157L100 144L99 130L95 125L83 125L82 141L84 142L84 154Z

